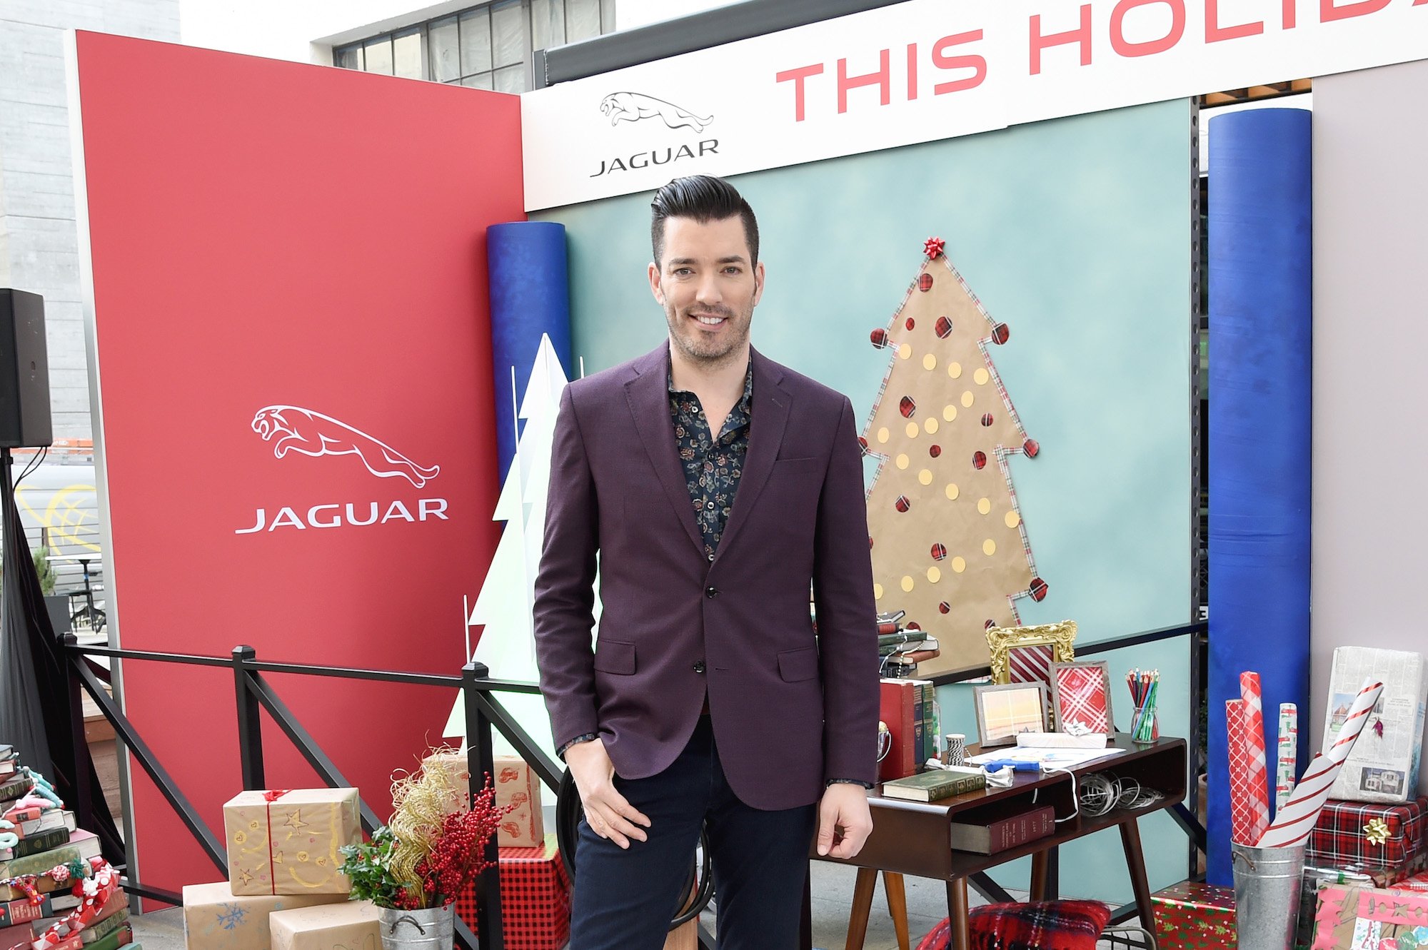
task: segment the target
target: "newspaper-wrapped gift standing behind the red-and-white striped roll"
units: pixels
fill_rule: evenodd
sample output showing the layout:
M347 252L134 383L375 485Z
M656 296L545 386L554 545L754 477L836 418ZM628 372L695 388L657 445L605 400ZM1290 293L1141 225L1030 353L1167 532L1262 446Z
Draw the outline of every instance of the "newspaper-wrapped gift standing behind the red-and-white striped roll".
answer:
M1334 650L1324 736L1338 733L1348 706L1365 679L1384 692L1329 789L1342 802L1405 802L1418 792L1418 752L1424 745L1428 668L1421 653L1372 646Z

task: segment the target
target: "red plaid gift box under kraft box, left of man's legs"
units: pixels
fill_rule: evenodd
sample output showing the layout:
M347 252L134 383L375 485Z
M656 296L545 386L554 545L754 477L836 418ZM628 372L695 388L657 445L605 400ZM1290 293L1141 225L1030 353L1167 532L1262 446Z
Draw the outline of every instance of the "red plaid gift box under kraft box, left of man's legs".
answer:
M501 927L507 950L560 950L570 940L570 877L547 834L540 847L503 847ZM456 900L461 920L476 930L476 890Z

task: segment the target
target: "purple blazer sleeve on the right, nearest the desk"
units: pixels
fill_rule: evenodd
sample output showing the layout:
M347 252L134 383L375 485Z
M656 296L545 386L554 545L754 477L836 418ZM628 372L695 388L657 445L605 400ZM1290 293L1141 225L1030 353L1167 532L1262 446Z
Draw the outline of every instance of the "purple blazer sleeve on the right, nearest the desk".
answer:
M843 399L813 566L824 683L824 779L877 780L878 646L863 454Z

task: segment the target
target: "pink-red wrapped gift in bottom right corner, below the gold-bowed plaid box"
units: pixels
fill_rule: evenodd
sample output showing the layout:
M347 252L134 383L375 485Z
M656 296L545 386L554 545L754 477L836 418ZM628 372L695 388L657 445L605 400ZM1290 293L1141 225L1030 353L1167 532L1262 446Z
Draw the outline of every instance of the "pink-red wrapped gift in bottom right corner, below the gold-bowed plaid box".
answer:
M1428 894L1325 884L1311 950L1415 950L1428 944Z

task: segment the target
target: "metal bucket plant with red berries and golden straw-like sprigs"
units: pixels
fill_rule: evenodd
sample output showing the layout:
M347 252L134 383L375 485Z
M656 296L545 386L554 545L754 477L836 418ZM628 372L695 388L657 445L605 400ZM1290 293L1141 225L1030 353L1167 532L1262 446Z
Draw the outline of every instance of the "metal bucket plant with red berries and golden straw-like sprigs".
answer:
M391 805L391 820L371 840L341 849L353 899L377 904L384 950L451 950L456 899L491 866L486 846L516 806L496 805L490 776L471 796L436 767L393 776Z

